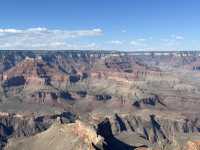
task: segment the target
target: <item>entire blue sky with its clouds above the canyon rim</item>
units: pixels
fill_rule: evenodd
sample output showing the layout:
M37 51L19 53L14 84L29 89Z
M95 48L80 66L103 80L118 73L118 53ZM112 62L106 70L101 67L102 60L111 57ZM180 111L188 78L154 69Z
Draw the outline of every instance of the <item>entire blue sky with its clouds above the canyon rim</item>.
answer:
M199 0L1 0L0 49L200 49Z

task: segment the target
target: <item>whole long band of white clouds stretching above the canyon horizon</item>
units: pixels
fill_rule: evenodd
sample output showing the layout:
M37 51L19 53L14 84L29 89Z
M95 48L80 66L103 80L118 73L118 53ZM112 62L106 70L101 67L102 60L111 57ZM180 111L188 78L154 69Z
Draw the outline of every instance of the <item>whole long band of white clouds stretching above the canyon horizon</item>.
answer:
M101 38L98 40L99 36ZM88 30L0 28L0 50L177 50L184 47L185 42L185 37L179 34L165 36L166 38L131 37L132 40L125 38L107 40L109 36L100 28Z

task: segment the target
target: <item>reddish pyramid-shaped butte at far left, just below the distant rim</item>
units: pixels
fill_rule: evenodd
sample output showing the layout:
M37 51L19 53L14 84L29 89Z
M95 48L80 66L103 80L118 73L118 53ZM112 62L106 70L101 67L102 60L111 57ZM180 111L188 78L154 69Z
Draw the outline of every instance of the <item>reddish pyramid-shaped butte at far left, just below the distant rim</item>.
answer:
M56 67L49 66L42 58L25 58L3 74L5 82L11 80L13 77L23 78L26 86L30 84L41 86L51 84L55 81L61 84L68 80L68 76L65 73Z

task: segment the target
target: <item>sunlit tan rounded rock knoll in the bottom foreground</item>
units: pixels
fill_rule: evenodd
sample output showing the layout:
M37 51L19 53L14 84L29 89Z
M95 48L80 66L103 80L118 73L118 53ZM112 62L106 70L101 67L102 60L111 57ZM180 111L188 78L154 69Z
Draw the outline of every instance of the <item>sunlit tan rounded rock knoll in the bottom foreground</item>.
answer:
M72 142L73 141L73 142ZM48 144L47 144L48 143ZM6 150L100 150L103 138L81 121L54 123L48 130L22 140L10 140Z

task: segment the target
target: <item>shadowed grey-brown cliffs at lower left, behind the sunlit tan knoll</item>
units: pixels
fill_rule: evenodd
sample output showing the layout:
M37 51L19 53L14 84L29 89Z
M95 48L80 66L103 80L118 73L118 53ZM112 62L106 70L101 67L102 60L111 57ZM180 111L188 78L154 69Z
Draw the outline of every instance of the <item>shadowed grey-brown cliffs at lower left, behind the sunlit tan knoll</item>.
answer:
M45 131L54 122L73 123L77 116L71 112L63 112L52 116L23 116L19 114L0 113L0 145L4 147L8 138L29 137Z

